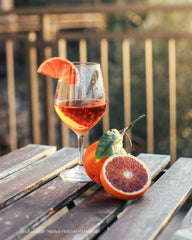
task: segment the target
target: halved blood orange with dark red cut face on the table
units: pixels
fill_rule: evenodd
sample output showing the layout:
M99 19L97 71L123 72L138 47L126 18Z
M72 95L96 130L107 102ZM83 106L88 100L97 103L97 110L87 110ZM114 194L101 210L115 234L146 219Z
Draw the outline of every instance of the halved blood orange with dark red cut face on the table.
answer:
M109 194L124 200L142 196L151 185L146 164L130 154L109 157L103 164L100 179Z

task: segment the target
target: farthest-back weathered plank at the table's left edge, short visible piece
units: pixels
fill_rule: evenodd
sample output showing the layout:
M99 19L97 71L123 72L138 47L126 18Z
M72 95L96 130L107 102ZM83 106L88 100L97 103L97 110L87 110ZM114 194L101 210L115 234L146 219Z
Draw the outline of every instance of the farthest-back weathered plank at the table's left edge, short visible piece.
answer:
M0 157L0 179L56 151L54 146L29 144Z

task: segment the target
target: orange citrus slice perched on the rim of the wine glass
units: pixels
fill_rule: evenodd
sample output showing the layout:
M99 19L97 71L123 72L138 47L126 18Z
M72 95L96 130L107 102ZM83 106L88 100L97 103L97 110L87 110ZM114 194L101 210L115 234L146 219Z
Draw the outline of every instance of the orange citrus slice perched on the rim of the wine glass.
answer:
M49 77L62 79L73 85L79 85L78 70L72 62L65 58L48 58L41 63L37 72Z

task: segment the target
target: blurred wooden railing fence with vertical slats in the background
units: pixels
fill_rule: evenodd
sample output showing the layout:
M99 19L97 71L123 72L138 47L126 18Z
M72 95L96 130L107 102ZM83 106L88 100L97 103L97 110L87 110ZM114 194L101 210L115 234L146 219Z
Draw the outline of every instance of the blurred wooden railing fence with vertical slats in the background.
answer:
M110 33L105 31L99 32L71 32L62 33L56 25L54 32L50 28L49 16L59 14L106 14L106 13L125 13L129 11L150 12L150 11L191 11L192 5L127 5L127 6L84 6L84 7L59 7L59 8L36 8L20 9L9 12L1 12L0 15L33 18L36 21L35 27L30 27L27 31L12 31L1 33L0 40L5 42L6 55L6 72L7 72L7 94L8 94L8 116L9 116L9 136L10 150L13 151L18 147L17 139L17 121L16 121L16 97L15 97L15 62L14 62L14 44L17 41L24 41L27 53L28 78L30 80L30 109L32 117L32 142L41 143L40 134L40 97L39 97L39 80L36 73L38 59L40 61L53 56L53 49L60 57L66 58L67 43L72 40L79 42L79 61L87 61L87 41L97 40L100 46L100 62L103 71L105 89L109 94L109 66L108 66L108 42L122 42L122 62L123 62L123 86L124 86L124 122L125 126L131 121L131 56L130 40L140 39L145 42L145 71L146 71L146 117L147 117L147 152L154 152L154 106L153 106L153 40L161 39L168 42L168 62L169 62L169 108L170 108L170 153L172 161L176 159L176 41L179 39L192 39L188 33ZM32 17L33 16L33 17ZM98 17L98 16L97 16ZM105 15L100 19L101 25L105 23ZM98 20L96 20L98 22ZM92 24L92 23L90 23ZM25 26L26 27L26 26ZM91 26L90 26L91 27ZM18 28L19 29L19 28ZM53 29L53 28L52 28ZM53 110L53 81L46 79L46 109L47 109L47 144L55 145L55 114ZM125 94L126 93L126 94ZM110 128L109 111L105 113L103 119L103 131ZM69 131L62 125L62 145L69 146Z

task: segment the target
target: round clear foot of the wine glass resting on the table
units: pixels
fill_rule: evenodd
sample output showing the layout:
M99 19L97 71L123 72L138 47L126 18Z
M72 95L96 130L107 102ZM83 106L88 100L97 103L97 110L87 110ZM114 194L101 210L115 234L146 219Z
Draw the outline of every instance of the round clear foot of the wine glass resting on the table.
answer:
M76 165L73 168L66 169L60 173L64 181L70 182L91 182L91 178L85 172L83 165Z

